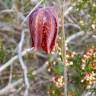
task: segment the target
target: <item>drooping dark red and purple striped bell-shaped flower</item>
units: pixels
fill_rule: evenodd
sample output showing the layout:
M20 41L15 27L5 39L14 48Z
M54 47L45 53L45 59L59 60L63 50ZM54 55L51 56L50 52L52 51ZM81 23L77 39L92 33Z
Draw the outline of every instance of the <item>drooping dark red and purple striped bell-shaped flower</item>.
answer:
M29 16L32 47L50 53L58 33L58 15L53 7L39 7Z

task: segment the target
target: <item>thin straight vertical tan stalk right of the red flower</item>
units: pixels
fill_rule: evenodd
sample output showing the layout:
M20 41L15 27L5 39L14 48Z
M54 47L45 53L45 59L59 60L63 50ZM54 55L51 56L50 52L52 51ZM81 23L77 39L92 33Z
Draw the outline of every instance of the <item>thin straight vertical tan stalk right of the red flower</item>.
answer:
M61 25L62 25L62 36L61 36L61 52L62 52L62 62L64 63L64 96L68 96L68 90L67 90L67 66L66 66L66 46L65 46L65 31L64 31L64 4L65 0L63 1L62 8L61 8Z

